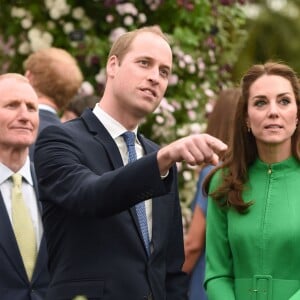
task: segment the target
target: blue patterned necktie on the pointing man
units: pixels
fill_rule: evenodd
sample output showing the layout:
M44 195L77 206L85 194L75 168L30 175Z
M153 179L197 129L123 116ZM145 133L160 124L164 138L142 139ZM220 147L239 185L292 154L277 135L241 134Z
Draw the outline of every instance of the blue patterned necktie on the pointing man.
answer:
M135 134L131 131L126 131L122 134L127 149L128 149L128 163L133 162L137 159L136 151L135 151ZM135 205L135 210L138 216L140 229L142 232L143 240L147 249L148 255L150 254L150 240L149 240L149 232L148 232L148 224L146 217L146 209L145 203L140 202Z

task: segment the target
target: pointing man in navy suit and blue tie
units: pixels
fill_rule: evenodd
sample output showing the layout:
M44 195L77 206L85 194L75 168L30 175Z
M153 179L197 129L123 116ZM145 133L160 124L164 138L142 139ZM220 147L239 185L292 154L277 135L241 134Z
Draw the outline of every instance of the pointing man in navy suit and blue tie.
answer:
M194 135L159 149L137 132L159 105L171 68L158 27L122 35L109 54L100 102L40 134L35 163L52 276L48 300L187 299L175 163L216 163L214 150L226 145Z

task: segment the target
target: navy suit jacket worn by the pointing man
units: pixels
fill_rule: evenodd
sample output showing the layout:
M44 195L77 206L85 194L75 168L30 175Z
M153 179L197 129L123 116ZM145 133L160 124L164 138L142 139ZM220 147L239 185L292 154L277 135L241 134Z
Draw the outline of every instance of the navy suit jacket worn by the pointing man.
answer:
M187 299L176 169L162 180L157 145L139 140L147 155L123 167L91 110L40 134L35 166L52 277L47 300ZM149 198L148 258L133 206Z

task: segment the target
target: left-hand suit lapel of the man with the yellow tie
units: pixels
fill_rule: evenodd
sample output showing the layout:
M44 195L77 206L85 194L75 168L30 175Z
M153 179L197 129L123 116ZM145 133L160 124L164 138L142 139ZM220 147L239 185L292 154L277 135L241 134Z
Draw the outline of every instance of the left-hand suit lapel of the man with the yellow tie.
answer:
M7 214L7 210L0 193L0 247L5 252L16 272L26 281L28 281L23 260L21 258L17 241Z

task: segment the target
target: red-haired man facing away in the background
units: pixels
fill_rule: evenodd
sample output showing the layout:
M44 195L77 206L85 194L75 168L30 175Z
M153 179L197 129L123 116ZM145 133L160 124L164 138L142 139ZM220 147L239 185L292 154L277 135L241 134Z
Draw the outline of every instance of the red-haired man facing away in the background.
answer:
M39 101L39 133L49 125L60 124L58 114L78 92L83 76L75 58L64 49L50 47L29 55L25 76ZM33 160L34 144L30 147Z

